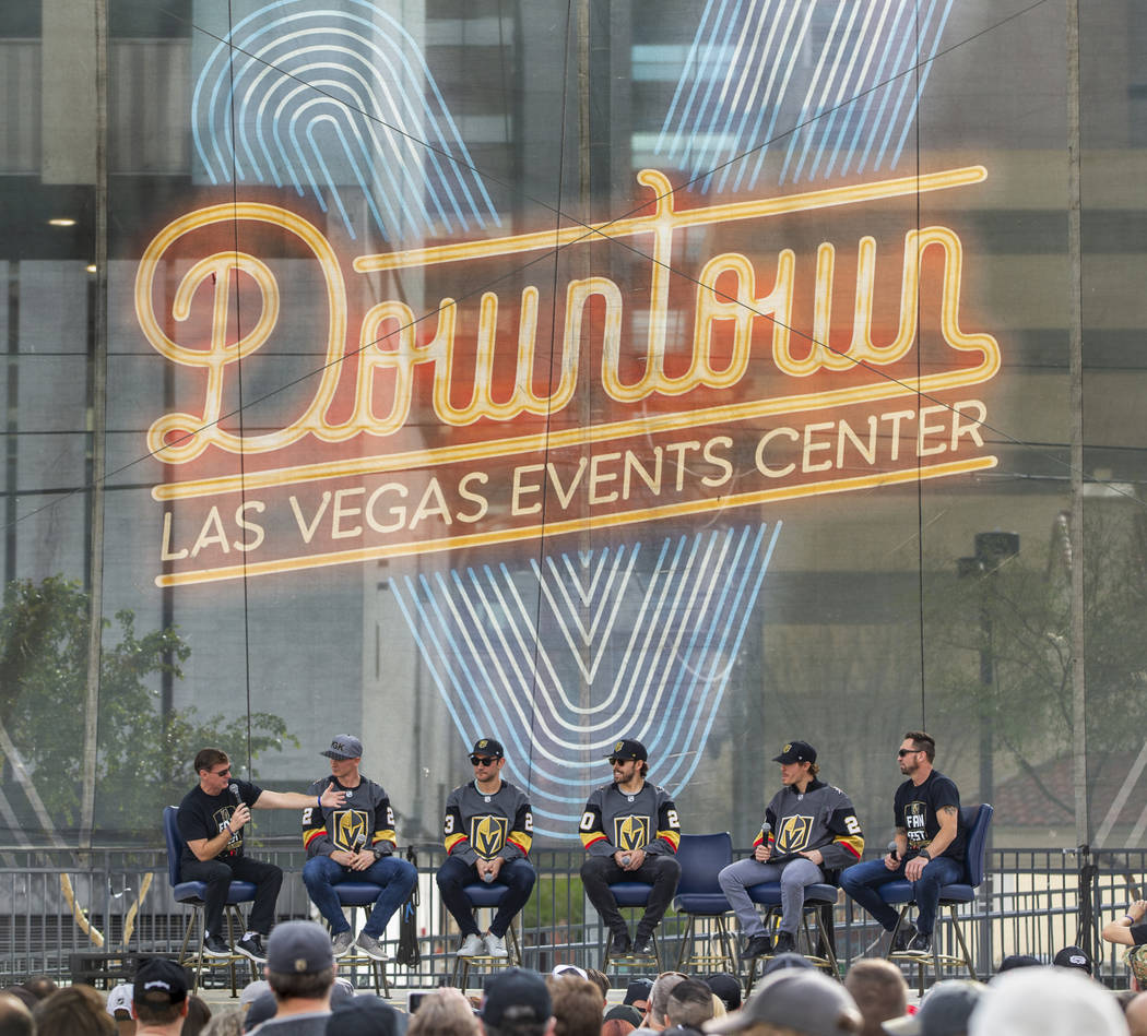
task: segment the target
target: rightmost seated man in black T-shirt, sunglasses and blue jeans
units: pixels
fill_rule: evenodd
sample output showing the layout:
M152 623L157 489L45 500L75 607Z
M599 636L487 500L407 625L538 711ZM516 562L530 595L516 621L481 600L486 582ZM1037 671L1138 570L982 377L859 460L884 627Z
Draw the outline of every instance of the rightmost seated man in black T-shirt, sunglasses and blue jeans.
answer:
M896 848L882 860L843 871L841 888L895 933L894 953L926 957L931 952L941 886L963 878L967 832L960 821L959 790L933 767L936 741L922 730L910 730L897 758L908 779L896 790ZM897 928L899 911L880 897L880 887L897 879L912 882L915 926L905 923Z

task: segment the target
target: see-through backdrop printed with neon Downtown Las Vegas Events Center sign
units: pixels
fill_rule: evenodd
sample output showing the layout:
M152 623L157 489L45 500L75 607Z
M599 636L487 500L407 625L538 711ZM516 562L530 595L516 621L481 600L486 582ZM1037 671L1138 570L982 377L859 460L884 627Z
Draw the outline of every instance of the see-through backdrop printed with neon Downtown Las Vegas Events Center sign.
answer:
M352 732L404 842L493 736L744 845L801 738L881 847L922 728L1141 842L1140 5L9 7L5 839Z

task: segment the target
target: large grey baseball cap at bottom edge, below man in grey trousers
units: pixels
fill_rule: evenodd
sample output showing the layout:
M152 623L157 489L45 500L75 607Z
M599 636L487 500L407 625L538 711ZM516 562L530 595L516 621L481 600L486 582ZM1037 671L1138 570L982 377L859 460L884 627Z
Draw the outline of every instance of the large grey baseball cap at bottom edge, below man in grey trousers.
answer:
M786 968L760 982L740 1011L707 1021L705 1033L740 1033L757 1022L809 1036L851 1036L863 1019L849 991L826 975Z

